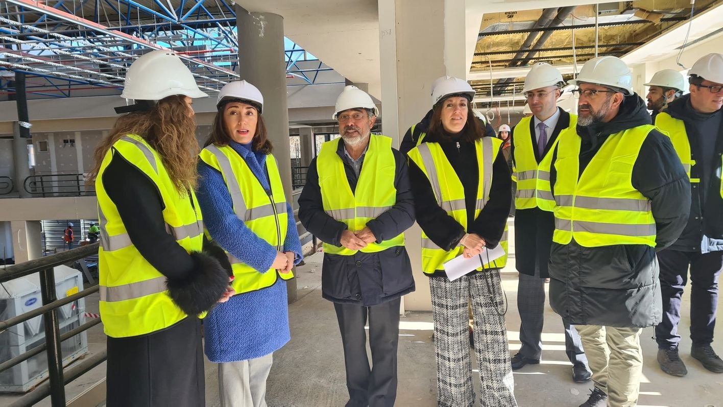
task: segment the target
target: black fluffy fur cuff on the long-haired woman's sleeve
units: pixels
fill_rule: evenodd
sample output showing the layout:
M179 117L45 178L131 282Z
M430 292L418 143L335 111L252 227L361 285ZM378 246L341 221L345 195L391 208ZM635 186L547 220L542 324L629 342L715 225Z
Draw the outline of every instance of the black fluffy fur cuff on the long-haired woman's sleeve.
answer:
M213 308L228 288L228 274L218 260L201 252L192 252L194 270L187 278L166 280L168 295L189 315Z

